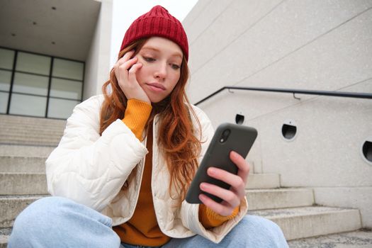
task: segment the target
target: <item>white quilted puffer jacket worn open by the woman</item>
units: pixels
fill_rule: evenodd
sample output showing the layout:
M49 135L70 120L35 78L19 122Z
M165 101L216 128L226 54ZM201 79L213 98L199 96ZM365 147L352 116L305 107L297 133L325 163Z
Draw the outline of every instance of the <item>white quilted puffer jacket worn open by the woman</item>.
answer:
M134 213L147 149L146 140L140 142L121 120L99 135L102 102L102 95L93 96L74 108L60 144L45 162L47 187L52 196L70 198L107 215L115 226L128 221ZM201 159L213 136L213 127L201 109L193 106L193 110L201 123L202 140L206 140L202 143ZM153 140L157 140L157 125L155 117ZM220 242L247 213L247 201L241 204L235 218L205 230L198 219L198 204L184 201L180 208L174 208L177 201L169 194L169 171L157 142L153 142L152 151L152 197L162 232L176 238L198 234ZM122 190L133 169L137 169L136 178Z

